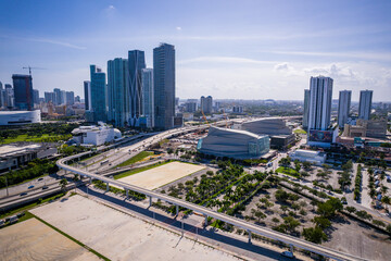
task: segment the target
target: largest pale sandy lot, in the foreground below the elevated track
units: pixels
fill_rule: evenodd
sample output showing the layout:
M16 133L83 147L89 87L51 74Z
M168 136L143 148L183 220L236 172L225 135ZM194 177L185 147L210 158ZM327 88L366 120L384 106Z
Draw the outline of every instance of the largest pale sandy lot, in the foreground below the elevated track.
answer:
M111 260L237 260L81 196L31 212Z

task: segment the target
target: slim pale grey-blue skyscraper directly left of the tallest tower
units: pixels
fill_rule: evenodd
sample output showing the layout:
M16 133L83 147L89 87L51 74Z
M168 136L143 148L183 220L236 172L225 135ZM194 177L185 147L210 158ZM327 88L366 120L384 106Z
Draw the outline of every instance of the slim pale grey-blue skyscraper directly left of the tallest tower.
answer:
M147 127L154 127L153 70L142 70L142 111Z

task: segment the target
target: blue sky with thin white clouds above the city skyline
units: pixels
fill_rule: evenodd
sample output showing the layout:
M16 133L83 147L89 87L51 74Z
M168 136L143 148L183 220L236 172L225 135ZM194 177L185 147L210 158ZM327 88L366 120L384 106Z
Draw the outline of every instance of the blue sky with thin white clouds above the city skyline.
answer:
M83 95L89 64L176 47L180 98L303 99L310 77L391 101L391 1L0 0L0 82Z

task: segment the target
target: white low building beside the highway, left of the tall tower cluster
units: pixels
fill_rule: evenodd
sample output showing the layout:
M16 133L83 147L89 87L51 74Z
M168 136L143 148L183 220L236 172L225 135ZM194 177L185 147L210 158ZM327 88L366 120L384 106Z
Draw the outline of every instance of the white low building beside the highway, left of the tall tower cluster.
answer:
M72 130L73 140L77 144L100 146L122 137L119 129L110 127L102 122L98 124L98 126L80 126L75 128Z

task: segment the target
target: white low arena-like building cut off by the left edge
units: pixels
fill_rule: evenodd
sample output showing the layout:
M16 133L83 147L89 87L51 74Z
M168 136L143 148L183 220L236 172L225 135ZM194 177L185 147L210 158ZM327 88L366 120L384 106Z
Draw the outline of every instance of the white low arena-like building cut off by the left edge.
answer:
M40 111L0 111L0 125L23 125L40 123Z

